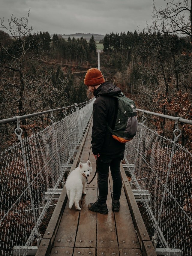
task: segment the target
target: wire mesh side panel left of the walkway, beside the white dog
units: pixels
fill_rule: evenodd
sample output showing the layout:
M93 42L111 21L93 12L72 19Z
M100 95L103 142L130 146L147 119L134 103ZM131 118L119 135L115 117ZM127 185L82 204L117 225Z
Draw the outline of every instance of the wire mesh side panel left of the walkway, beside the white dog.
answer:
M93 101L68 111L61 121L13 144L0 155L0 255L12 255L13 246L25 246L14 255L26 255L53 195L45 200L47 188L56 191L67 164L83 136ZM65 113L67 115L67 112ZM61 168L65 163L66 167Z

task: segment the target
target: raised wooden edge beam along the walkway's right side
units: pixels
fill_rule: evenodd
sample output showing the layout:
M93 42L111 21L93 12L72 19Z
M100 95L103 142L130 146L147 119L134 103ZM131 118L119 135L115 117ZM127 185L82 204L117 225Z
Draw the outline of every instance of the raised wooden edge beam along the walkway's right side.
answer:
M137 230L137 236L140 242L140 246L142 246L142 241L150 241L149 234L146 230L145 224L143 222L143 218L141 216L140 210L138 208L137 202L131 190L131 186L128 182L128 179L122 164L120 165L120 168L121 168L121 175L122 175L125 195L128 201L128 205L129 205L131 216L134 222L135 229Z

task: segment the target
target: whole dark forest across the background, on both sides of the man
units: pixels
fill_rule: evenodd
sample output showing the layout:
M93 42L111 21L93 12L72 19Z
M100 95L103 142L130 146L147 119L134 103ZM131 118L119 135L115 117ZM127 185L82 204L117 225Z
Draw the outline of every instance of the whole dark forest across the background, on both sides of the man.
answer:
M1 119L69 106L91 97L83 78L88 68L98 65L94 37L90 41L83 37L66 40L57 34L51 38L48 32L36 33L28 26L29 14L20 20L12 15L8 33L0 30ZM160 15L161 10L156 10L154 18L159 20ZM140 32L106 33L101 71L106 80L133 98L138 108L192 119L191 32L166 32L161 24L153 24ZM3 20L1 27L5 29ZM172 137L173 122L150 116L148 122L159 134ZM35 124L33 119L23 120L24 136L48 124L49 119L42 117ZM1 150L15 140L15 125L1 125ZM191 151L191 127L180 126L179 143Z

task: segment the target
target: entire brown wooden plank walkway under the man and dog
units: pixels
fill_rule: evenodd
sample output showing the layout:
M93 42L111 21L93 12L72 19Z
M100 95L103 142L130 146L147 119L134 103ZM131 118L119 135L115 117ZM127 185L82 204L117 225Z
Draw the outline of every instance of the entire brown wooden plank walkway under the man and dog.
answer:
M92 123L90 122L71 170L76 168L79 161L86 162L89 159L93 167L93 173L91 174L93 176L96 163L91 151L91 125ZM155 256L155 249L150 241L122 165L121 173L123 187L119 212L112 211L111 195L113 181L111 175L109 175L109 192L107 197L109 213L106 215L88 210L88 203L97 200L97 175L91 184L86 187L87 194L82 196L79 203L81 211L76 211L74 205L72 209L69 209L66 189L64 187L36 256Z

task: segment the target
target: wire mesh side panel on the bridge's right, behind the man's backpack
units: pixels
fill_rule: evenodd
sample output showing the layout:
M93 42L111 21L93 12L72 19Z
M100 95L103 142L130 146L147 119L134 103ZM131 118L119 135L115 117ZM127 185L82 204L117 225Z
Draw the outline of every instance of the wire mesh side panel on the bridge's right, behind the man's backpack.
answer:
M192 255L192 154L139 123L137 135L126 143L125 156L128 166L134 164L134 186L150 193L150 200L143 191L140 196L158 245Z

